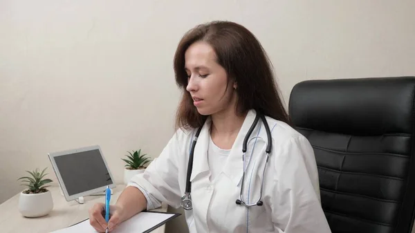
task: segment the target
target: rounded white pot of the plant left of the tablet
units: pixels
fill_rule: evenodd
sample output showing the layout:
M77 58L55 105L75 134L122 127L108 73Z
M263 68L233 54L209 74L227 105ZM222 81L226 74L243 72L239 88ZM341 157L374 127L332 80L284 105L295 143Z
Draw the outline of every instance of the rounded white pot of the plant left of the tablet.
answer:
M49 214L53 209L53 200L50 191L40 194L24 194L19 196L19 212L29 218L41 217Z

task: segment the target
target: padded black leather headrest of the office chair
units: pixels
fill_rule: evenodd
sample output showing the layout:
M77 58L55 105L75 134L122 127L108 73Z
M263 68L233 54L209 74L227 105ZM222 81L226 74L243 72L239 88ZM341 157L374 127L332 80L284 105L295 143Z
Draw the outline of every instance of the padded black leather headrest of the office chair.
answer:
M307 80L291 91L296 127L360 136L411 133L415 77Z

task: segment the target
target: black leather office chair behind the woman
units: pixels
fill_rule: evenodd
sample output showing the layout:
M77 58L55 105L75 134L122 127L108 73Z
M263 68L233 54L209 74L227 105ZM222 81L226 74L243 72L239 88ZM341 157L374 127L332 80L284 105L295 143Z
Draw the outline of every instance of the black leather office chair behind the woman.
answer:
M415 204L415 77L308 80L289 114L315 152L333 233L409 233Z

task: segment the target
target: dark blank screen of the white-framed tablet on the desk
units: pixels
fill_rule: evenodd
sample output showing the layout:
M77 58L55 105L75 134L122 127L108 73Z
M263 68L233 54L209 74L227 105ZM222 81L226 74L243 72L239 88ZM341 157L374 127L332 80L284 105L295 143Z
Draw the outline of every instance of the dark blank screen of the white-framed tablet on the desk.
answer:
M98 149L56 156L55 162L69 196L113 183Z

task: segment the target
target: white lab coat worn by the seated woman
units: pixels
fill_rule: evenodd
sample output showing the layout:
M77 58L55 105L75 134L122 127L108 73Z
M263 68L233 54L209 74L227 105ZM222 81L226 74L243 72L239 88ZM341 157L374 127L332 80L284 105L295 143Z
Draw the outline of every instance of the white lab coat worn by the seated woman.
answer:
M320 204L320 189L314 153L308 140L284 122L268 118L273 147L264 180L264 205L245 207L237 205L244 162L242 144L255 119L255 111L248 112L232 146L223 171L210 182L208 165L208 119L203 126L194 150L192 169L192 210L185 210L191 233L196 232L331 232ZM158 158L144 174L136 175L129 185L139 187L147 198L147 209L165 202L181 206L185 193L187 161L196 130L179 129L169 140ZM257 201L266 153L266 130L259 120L248 143L243 200L249 193L249 202ZM255 147L254 147L255 146ZM253 150L253 152L252 152ZM252 171L252 172L251 172ZM252 175L251 175L252 174Z

